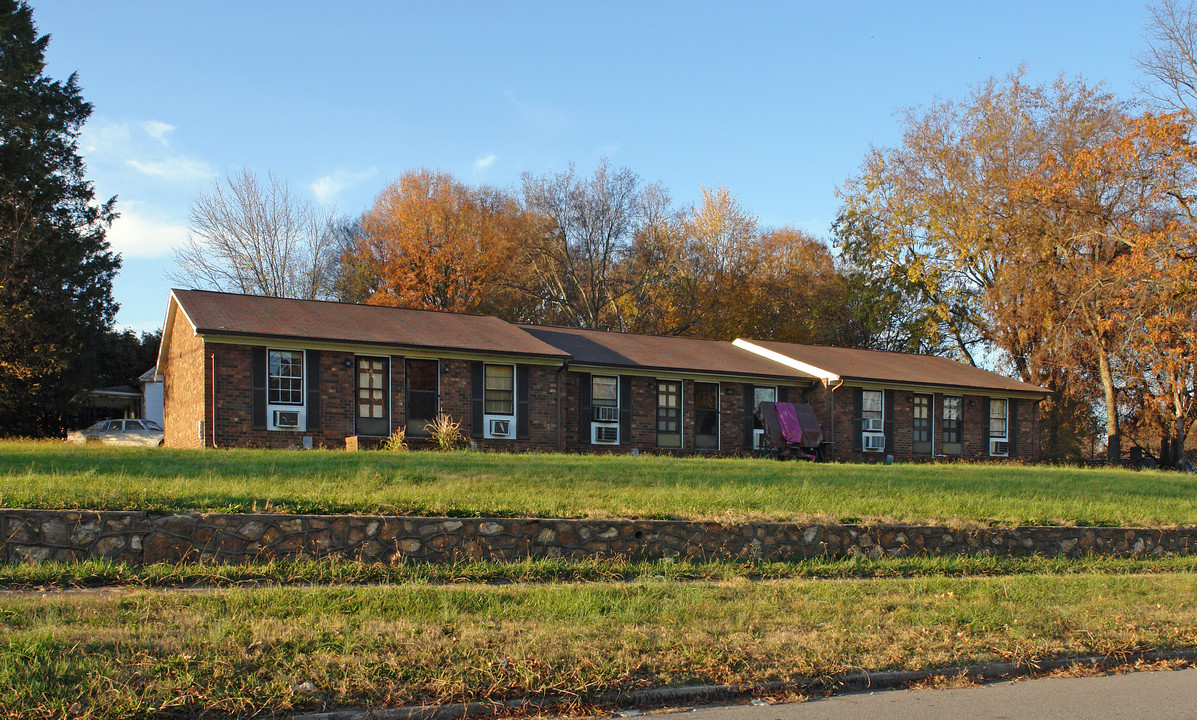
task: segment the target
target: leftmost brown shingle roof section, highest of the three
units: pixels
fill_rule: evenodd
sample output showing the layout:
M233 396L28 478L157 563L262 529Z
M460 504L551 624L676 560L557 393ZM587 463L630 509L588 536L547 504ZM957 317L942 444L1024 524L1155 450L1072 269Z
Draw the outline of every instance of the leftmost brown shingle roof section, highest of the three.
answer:
M569 358L497 317L195 289L172 292L201 334Z

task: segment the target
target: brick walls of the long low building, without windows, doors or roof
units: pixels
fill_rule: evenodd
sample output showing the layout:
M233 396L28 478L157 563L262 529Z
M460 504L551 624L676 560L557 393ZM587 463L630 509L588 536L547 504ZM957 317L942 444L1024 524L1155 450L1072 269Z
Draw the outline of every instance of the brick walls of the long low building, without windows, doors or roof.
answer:
M346 447L347 438L358 435L356 428L356 361L358 354L345 349L321 348L309 352L306 362L318 358L318 411L309 417L308 427L300 431L269 431L254 426L254 353L263 353L266 346L232 344L227 342L205 341L196 336L187 321L176 316L172 331L169 332L169 346L165 348L165 444L171 447L297 447L310 443L315 447ZM296 344L282 346L299 349ZM261 358L261 355L259 355ZM402 427L407 420L406 408L406 366L401 355L364 353L360 356L384 356L389 362L389 388L387 401L389 405L390 428ZM496 362L516 365L519 377L527 380L527 405L517 410L525 414L527 438L482 439L481 428L474 428L476 411L474 388L476 373L480 372L479 360L462 358L437 359L439 380L439 411L462 423L463 435L476 446L491 450L543 450L567 452L628 452L636 449L642 452L664 453L717 453L739 454L752 452L752 410L746 407L746 399L752 397L753 383L749 380L718 382L718 450L698 450L694 446L695 382L715 382L704 379L682 379L681 429L682 446L666 449L658 444L657 435L657 386L660 378L651 376L627 376L620 380L620 405L631 408L630 417L620 423L618 445L595 445L590 443L589 432L579 416L581 383L591 374L560 365L542 365L519 362L519 358L497 355ZM305 379L311 373L305 371ZM523 374L525 373L525 374ZM620 377L618 370L602 372ZM676 376L673 376L676 378ZM892 429L882 452L863 452L859 447L858 417L853 393L858 390L851 385L834 386L828 390L819 383L807 388L784 383L764 383L778 385L778 399L810 403L821 419L824 439L830 441L826 454L828 459L846 462L877 462L887 454L898 460L930 459L944 457L940 417L942 416L943 393L932 396L932 432L934 449L930 453L913 452L913 401L915 392L905 389L885 390L886 420ZM262 385L260 380L259 386ZM308 385L306 392L314 386ZM630 392L627 392L630 391ZM311 397L306 407L314 407ZM961 446L959 457L965 459L1004 459L991 458L989 454L989 437L985 427L985 408L989 396L961 393ZM994 395L992 397L1002 397ZM1013 408L1009 437L1010 459L1034 462L1038 459L1039 416L1038 401L1009 398ZM751 402L751 401L749 401ZM426 440L409 438L409 443L420 446ZM361 446L377 444L377 439L363 438Z

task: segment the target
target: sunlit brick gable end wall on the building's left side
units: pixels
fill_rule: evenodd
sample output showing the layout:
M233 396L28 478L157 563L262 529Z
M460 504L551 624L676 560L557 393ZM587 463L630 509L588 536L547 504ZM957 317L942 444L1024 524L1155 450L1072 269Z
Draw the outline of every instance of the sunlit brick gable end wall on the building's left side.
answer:
M201 422L206 415L203 340L183 313L175 315L166 347L163 383L163 426L168 447L202 447Z

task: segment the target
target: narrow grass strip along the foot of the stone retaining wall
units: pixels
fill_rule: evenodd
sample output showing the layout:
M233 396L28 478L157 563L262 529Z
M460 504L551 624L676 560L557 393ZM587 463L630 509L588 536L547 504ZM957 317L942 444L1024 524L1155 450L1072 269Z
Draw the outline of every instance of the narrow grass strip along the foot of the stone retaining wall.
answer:
M1146 575L1197 573L1197 556L813 557L791 561L524 559L387 565L353 560L126 565L108 560L0 563L0 591L89 587L239 587L256 585L399 585L425 582L634 582L731 580L847 580L868 578L989 578L998 575Z

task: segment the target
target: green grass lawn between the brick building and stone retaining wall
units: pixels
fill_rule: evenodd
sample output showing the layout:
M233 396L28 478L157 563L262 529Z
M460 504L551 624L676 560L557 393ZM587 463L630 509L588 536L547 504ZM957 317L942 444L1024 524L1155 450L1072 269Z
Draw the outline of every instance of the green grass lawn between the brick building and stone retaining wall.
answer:
M0 441L0 506L1155 526L1197 524L1197 477L1010 464Z

